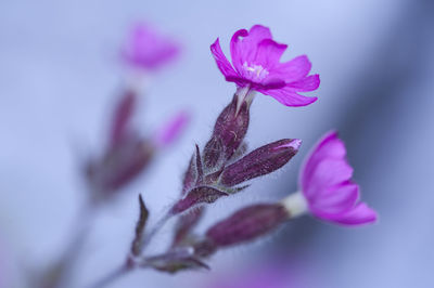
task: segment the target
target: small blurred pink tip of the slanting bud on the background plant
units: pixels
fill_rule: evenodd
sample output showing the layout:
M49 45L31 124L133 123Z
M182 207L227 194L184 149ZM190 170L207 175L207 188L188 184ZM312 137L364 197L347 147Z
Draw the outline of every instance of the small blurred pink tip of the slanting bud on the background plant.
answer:
M164 148L178 139L179 134L186 129L190 121L190 114L180 112L175 115L154 136L154 143L157 147Z

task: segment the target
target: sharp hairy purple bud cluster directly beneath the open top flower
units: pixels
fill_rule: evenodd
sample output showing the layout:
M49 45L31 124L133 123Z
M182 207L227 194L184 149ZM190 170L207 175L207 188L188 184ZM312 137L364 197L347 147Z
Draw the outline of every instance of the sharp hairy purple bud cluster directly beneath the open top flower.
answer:
M171 208L173 214L238 193L248 186L244 182L278 170L298 152L299 140L284 139L244 155L248 121L248 103L234 95L202 153L196 145L184 174L183 197Z

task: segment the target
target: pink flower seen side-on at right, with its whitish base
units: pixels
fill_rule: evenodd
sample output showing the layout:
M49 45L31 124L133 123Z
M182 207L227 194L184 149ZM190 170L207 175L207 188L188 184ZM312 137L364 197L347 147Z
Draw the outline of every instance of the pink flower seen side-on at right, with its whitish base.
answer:
M369 224L376 212L360 201L359 185L336 131L327 133L314 147L299 174L301 192L283 199L292 217L309 210L315 217L343 225Z

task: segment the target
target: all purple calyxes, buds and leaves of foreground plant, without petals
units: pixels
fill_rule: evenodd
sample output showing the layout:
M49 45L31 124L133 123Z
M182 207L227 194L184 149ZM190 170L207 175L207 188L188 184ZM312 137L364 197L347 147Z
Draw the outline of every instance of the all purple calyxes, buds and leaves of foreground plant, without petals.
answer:
M178 215L174 240L166 253L142 256L144 246L159 227L144 232L142 215L148 212L140 200L141 217L129 263L170 273L206 267L203 259L219 248L255 239L289 219L290 213L281 204L258 204L216 223L202 237L192 234L206 204L246 188L247 181L280 169L298 152L301 140L283 139L246 153L244 138L250 122L250 104L251 101L235 94L218 116L205 147L195 146L183 176L181 198L163 218ZM158 222L158 225L163 224L164 221Z

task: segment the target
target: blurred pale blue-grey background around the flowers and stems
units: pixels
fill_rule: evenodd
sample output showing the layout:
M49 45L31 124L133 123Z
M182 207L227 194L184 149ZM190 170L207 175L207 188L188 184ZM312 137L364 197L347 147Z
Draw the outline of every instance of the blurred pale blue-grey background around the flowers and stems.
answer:
M235 89L217 69L209 44L220 37L228 54L232 34L254 24L269 26L277 41L289 44L283 61L309 56L321 76L310 95L319 100L291 108L256 97L250 146L299 138L302 150L282 171L217 201L197 230L247 202L296 191L303 157L333 128L379 223L343 228L304 217L265 239L219 252L210 272L137 271L110 287L244 287L233 284L267 271L281 282L261 287L433 287L431 0L1 1L0 287L25 287L23 274L48 265L68 241L87 193L81 163L106 141L125 79L119 47L137 21L173 36L182 52L152 78L136 123L153 131L179 109L188 109L192 121L152 169L99 211L75 287L123 261L138 193L151 221L178 197L193 145L208 139ZM228 280L232 286L225 286Z

